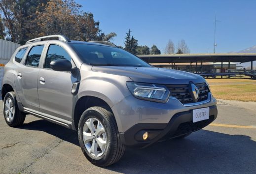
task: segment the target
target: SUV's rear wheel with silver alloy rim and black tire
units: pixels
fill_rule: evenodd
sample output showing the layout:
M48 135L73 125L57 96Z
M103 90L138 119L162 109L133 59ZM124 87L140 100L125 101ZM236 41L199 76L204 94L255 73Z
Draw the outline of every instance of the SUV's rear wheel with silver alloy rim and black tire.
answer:
M26 114L21 112L17 105L14 92L8 92L3 99L3 116L10 127L20 126L24 123Z

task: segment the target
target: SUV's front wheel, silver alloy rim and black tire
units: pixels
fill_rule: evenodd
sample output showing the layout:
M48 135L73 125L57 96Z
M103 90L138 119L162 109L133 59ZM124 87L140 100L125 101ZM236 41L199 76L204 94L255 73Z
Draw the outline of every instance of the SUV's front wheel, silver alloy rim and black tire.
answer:
M84 111L77 132L83 154L96 166L110 166L124 154L125 145L120 141L114 116L104 107L91 107Z

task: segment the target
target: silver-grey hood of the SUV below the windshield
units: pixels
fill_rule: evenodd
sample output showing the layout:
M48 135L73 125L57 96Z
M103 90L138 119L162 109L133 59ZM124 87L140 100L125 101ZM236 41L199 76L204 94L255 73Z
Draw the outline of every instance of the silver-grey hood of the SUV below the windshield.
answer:
M126 76L134 82L153 84L194 84L204 83L205 79L199 75L185 71L156 68L156 67L126 67L126 66L93 66L93 71Z

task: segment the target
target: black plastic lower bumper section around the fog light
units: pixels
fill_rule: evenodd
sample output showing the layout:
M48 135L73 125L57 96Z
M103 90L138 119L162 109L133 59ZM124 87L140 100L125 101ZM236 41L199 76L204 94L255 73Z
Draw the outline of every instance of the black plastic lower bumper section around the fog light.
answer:
M203 108L203 107L202 107ZM193 123L192 110L180 112L172 116L169 123L139 123L124 133L119 133L124 145L146 147L158 141L175 138L204 128L213 122L218 115L217 107L210 106L210 118ZM148 132L148 139L144 141L142 135Z

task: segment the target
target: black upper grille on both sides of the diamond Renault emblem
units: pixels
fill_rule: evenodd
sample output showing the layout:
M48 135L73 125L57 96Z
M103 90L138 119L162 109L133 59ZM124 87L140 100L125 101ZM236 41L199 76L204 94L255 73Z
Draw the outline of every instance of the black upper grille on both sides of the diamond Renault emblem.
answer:
M197 102L207 100L209 93L207 84L195 84L195 86L199 89ZM166 85L166 87L170 90L170 96L177 98L182 104L195 102L190 95L189 85Z

